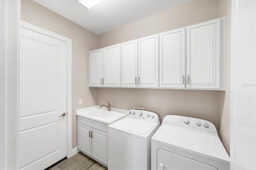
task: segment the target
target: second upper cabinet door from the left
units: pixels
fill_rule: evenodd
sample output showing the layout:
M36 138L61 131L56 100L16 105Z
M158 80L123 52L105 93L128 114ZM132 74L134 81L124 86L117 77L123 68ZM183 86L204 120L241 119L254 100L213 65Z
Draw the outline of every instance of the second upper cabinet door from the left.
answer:
M112 45L104 48L104 79L103 85L105 87L120 86L120 58L121 45Z

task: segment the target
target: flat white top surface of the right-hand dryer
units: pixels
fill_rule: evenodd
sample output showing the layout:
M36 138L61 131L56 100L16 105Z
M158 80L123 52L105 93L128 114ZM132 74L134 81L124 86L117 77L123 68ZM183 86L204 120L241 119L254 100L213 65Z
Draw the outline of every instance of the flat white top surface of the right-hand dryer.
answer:
M161 125L152 136L152 141L224 164L230 164L228 153L218 136Z

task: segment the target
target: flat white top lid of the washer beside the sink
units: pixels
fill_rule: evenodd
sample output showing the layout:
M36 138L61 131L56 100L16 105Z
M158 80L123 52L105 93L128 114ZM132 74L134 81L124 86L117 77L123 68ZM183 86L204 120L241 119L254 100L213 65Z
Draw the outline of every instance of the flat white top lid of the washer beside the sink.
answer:
M130 132L147 134L153 127L154 123L140 121L132 118L124 118L112 124L112 127L121 128Z

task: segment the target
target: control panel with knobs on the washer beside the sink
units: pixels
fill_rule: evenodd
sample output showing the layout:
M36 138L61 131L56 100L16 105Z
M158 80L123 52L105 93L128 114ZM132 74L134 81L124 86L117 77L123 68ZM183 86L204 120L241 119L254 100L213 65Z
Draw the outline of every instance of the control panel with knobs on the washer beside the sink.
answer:
M136 110L132 109L127 111L126 117L131 117L134 119L140 119L144 121L149 121L153 123L159 122L159 117L156 113L150 112L150 111L142 111L142 110Z

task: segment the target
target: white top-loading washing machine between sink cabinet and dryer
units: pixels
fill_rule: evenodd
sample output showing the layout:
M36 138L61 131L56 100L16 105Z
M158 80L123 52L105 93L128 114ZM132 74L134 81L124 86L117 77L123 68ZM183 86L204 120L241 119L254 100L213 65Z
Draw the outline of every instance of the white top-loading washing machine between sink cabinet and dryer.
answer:
M150 170L151 137L159 117L149 111L130 110L108 126L108 169Z

